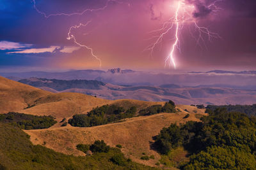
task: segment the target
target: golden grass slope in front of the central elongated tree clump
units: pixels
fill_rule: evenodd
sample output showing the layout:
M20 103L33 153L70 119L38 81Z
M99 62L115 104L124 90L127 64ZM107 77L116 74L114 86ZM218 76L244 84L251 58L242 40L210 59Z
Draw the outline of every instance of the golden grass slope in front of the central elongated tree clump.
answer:
M204 110L198 110L195 106L177 106L180 113L159 113L157 115L127 118L124 122L99 125L95 127L53 127L50 129L25 131L31 136L35 145L45 145L56 152L73 155L84 155L76 150L76 145L92 144L97 139L103 139L108 145L115 147L117 144L123 146L122 152L132 160L154 166L160 159L157 152L150 149L152 137L156 136L163 127L172 123L185 123L189 120L199 121L196 115L205 115ZM189 118L185 109L196 111L190 113ZM142 153L148 156L154 155L156 159L141 160Z

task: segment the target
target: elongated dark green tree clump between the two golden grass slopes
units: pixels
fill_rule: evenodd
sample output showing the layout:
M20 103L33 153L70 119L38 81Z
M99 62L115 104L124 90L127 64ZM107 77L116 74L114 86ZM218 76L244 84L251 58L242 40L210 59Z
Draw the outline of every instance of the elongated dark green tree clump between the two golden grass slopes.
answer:
M175 113L175 104L173 101L169 101L165 103L164 106L154 105L143 110L138 111L136 106L131 106L125 110L122 106L112 105L104 105L101 107L97 107L92 111L88 112L88 114L79 114L74 115L70 120L68 120L68 124L76 127L92 127L96 125L104 125L112 122L118 122L124 118L132 118L135 116L142 115L154 115L157 113Z

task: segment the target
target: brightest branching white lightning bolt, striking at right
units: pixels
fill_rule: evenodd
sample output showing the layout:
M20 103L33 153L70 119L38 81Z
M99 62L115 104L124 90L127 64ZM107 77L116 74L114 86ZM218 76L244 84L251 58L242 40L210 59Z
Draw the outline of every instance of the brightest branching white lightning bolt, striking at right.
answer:
M211 9L213 13L216 13L222 10L222 8L219 8L216 5L216 3L220 1L225 1L225 0L214 1L213 3L209 4L207 8ZM184 24L189 24L189 32L191 36L195 39L196 44L200 46L200 48L202 48L201 43L203 43L205 48L207 48L207 46L205 45L204 37L203 37L204 35L208 37L209 41L211 41L211 38L221 38L221 37L217 33L209 31L207 27L202 27L198 25L195 18L193 18L192 16L192 12L195 11L195 6L186 4L184 0L179 0L177 1L177 5L175 5L174 8L175 8L174 17L170 17L166 22L164 22L164 24L160 29L148 32L150 34L159 32L159 35L152 36L152 38L150 38L150 39L156 39L156 40L154 41L154 43L152 43L152 45L147 46L147 48L145 48L143 52L150 51L150 55L153 55L154 48L156 48L156 46L163 41L164 36L166 36L168 32L172 31L173 27L175 26L175 30L174 30L175 34L172 38L174 41L171 45L171 48L170 48L171 50L169 55L164 60L164 67L168 65L169 67L173 66L173 68L176 69L177 62L175 62L175 58L177 58L177 56L175 55L175 51L179 50L180 52L180 34L182 34L182 29L184 27ZM193 24L195 31L198 32L197 36L191 31L191 28L190 28L191 24Z

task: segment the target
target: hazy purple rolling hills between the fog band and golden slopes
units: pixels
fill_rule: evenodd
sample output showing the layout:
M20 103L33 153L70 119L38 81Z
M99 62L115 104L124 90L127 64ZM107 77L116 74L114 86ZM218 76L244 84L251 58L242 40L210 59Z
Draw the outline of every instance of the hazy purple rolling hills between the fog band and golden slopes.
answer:
M124 86L97 80L56 80L28 78L19 80L50 92L78 92L102 99L137 99L142 101L168 101L179 104L253 104L256 91L234 90L225 87L181 87L175 84L157 86Z

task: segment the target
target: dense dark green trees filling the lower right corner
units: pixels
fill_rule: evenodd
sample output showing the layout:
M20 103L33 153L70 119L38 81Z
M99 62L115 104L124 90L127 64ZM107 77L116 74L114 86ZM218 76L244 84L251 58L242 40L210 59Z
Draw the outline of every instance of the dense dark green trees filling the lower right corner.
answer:
M188 150L181 169L256 169L256 118L218 108L201 120L163 128L153 147L164 155Z

